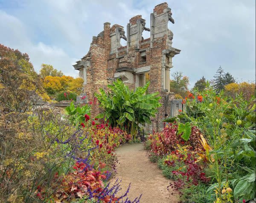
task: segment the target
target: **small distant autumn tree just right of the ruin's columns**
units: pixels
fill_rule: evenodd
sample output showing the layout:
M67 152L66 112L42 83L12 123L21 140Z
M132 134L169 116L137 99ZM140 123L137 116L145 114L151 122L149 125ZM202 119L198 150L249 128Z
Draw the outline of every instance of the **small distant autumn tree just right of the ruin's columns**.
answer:
M172 80L170 80L170 91L175 94L180 94L183 98L187 96L189 91L189 78L183 76L183 73L176 71L171 74Z

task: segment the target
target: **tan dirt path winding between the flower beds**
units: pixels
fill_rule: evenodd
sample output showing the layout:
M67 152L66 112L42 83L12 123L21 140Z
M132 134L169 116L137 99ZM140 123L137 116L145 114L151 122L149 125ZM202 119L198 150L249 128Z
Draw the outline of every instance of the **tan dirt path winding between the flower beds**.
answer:
M141 143L121 146L116 153L119 163L116 177L111 182L122 179L122 194L131 183L128 197L132 200L143 194L140 203L178 203L177 193L167 190L170 181L163 177L156 164L149 161Z

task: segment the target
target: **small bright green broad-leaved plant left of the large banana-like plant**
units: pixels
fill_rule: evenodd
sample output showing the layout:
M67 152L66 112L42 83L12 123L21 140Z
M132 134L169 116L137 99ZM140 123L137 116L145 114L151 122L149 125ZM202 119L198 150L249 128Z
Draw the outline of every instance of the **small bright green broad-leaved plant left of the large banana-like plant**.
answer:
M68 119L74 126L80 126L81 123L85 123L84 115L90 115L90 110L90 106L87 104L82 107L75 107L73 102L70 103L70 106L65 108Z

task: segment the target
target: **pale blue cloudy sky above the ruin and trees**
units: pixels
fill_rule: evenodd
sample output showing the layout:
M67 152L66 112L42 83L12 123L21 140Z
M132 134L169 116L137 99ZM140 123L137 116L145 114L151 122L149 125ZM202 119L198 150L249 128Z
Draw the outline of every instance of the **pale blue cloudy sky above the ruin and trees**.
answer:
M0 43L29 54L35 70L47 63L77 76L73 64L83 57L103 23L125 27L163 0L0 0ZM255 81L255 0L169 0L175 24L172 71L182 71L190 87L218 67L239 80ZM126 30L125 30L126 31ZM149 32L144 31L148 38Z

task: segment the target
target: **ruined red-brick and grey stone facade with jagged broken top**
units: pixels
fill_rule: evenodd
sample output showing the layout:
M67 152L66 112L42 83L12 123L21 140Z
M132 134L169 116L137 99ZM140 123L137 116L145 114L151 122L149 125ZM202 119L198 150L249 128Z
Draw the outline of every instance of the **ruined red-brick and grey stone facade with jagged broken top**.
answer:
M168 29L169 21L174 23L171 9L167 3L161 3L150 15L150 28L146 28L141 15L129 20L126 36L123 26L104 23L104 30L93 37L88 53L74 65L84 79L87 99L93 101L94 93L99 88L106 90L116 78L121 78L130 89L150 81L148 93L158 91L163 106L156 117L151 118L152 124L146 130L162 129L162 120L166 114L170 115L174 98L170 92L172 57L180 53L179 49L172 47L173 33ZM150 31L150 38L143 39L143 31ZM121 38L127 41L127 46L121 46ZM99 104L94 103L92 115L101 111Z

